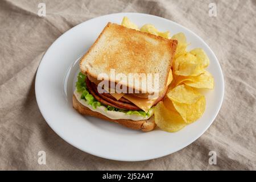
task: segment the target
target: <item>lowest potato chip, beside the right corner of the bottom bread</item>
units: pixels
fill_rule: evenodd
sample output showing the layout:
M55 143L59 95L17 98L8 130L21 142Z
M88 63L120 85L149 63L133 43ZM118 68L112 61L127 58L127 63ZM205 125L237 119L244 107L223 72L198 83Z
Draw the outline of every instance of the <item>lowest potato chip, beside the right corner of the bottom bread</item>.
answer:
M168 110L163 101L155 106L155 123L160 129L176 132L187 125L177 111Z

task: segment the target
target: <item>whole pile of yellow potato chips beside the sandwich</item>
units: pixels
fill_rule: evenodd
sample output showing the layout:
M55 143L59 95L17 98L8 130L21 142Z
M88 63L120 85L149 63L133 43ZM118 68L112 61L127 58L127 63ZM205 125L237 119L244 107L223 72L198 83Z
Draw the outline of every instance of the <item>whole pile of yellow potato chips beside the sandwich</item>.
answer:
M175 132L199 119L205 111L205 97L199 89L214 87L212 75L205 70L210 61L204 50L195 48L188 52L187 39L183 33L170 38L169 31L160 32L152 24L145 24L139 29L127 17L123 18L122 26L178 41L172 63L174 80L164 100L155 106L156 125L164 131Z

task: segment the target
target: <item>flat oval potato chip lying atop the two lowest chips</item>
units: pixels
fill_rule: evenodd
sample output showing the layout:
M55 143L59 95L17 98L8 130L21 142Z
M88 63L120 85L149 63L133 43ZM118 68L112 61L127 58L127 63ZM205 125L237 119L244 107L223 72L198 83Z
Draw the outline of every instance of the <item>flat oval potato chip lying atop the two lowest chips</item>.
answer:
M179 85L176 86L174 89L170 90L167 93L167 97L175 102L193 104L197 100L199 100L201 94L197 90L189 86Z

